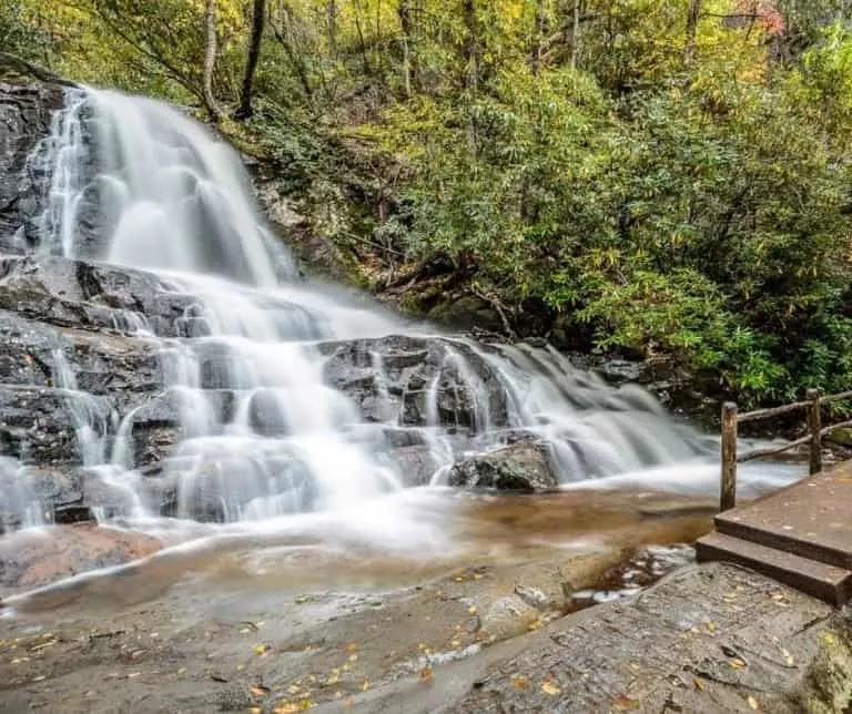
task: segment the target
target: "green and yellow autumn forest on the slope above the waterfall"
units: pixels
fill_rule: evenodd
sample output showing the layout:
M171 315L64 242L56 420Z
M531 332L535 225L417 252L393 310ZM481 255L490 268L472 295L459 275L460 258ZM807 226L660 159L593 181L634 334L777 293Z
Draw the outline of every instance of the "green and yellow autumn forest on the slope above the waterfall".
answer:
M0 0L0 44L219 122L412 309L771 401L852 381L848 4Z

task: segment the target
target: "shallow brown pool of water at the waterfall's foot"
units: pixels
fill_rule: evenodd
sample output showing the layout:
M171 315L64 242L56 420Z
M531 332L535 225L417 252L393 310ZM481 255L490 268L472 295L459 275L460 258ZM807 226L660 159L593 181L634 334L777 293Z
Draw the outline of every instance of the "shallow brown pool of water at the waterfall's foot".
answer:
M653 491L576 491L448 498L444 539L398 551L389 542L344 543L317 533L232 533L178 542L124 567L93 571L19 593L19 613L115 611L176 590L210 602L303 592L382 592L410 588L465 568L510 569L653 544L690 543L710 529L708 499ZM40 538L50 538L50 531ZM180 541L179 534L172 534ZM45 563L40 563L45 568Z

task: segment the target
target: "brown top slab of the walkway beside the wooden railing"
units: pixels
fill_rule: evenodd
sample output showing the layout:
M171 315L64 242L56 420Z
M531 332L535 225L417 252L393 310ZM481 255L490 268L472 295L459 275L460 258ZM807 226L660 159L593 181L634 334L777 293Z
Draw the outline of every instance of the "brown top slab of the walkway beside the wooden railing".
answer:
M852 569L852 463L810 477L717 516L716 527L742 540Z

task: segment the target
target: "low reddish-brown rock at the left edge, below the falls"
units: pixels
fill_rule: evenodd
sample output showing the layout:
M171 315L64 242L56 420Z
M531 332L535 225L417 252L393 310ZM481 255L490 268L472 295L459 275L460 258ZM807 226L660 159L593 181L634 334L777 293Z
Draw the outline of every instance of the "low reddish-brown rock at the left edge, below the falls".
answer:
M151 536L81 523L0 539L0 585L36 588L88 570L120 565L155 553Z

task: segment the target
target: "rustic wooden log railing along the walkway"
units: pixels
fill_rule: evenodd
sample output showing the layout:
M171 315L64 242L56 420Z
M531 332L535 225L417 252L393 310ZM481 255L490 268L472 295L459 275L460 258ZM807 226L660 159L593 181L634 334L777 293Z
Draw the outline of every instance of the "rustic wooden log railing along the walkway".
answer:
M737 405L734 402L726 401L722 405L722 490L719 499L719 510L727 511L737 504L737 465L743 461L775 456L795 447L810 443L809 472L813 476L822 471L822 437L828 436L835 429L852 427L852 419L823 427L822 405L842 399L852 399L852 391L842 391L836 395L821 397L819 389L809 389L805 392L804 401L794 401L781 407L758 409L757 411L746 411L743 414L737 412ZM799 411L800 409L805 410L808 415L808 434L805 436L777 447L737 453L738 425L747 421L780 417Z

